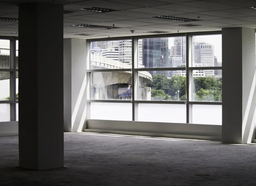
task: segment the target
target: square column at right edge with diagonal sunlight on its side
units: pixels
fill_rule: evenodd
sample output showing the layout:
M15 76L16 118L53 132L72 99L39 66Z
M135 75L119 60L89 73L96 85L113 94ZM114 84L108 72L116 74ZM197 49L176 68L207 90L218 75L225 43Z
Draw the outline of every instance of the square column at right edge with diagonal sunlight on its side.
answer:
M255 29L222 29L222 142L252 142L255 131Z

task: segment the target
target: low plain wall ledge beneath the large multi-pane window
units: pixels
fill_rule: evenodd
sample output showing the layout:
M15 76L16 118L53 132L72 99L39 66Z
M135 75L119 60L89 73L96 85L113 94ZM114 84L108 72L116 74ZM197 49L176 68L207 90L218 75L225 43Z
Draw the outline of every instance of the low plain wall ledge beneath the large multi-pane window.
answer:
M87 119L88 132L221 140L221 125Z

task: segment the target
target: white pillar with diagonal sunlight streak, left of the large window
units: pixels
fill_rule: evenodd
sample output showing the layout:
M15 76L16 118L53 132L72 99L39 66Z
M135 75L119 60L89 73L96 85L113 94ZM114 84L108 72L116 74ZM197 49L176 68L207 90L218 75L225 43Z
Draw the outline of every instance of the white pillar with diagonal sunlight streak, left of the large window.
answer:
M86 40L64 39L64 131L81 132L86 114ZM90 61L88 61L90 63Z

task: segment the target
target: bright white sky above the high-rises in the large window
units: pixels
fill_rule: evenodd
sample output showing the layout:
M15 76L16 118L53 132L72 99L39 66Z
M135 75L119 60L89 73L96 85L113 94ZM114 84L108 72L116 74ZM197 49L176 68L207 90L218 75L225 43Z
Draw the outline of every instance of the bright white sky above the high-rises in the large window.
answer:
M222 62L221 51L221 35L199 35L195 37L195 42L208 43L214 46L214 55L217 57L218 62ZM173 46L174 38L169 38L169 48Z

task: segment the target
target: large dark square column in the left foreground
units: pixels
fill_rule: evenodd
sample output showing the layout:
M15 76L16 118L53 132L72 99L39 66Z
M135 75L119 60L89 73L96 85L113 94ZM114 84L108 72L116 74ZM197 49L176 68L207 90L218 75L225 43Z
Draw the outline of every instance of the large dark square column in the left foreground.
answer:
M19 6L19 160L64 167L63 6Z

